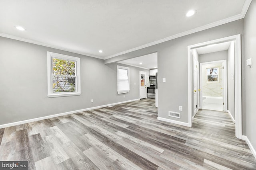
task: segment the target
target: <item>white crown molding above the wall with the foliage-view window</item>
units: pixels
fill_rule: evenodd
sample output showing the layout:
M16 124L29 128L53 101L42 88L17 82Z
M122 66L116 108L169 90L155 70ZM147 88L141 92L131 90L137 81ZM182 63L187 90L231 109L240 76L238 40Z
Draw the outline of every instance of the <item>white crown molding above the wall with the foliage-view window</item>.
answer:
M59 49L59 50L68 51L68 52L71 52L71 53L76 53L76 54L80 54L80 55L86 55L88 57L94 57L94 58L97 58L97 59L104 60L104 57L100 57L100 56L96 56L96 55L91 55L91 54L88 54L88 53L81 53L80 51L70 50L70 49L63 48L63 47L58 47L58 46L55 46L55 45L40 43L38 41L34 41L34 40L31 40L31 39L26 39L26 38L21 38L21 37L17 37L17 36L14 36L14 35L9 35L9 34L6 34L6 33L0 33L0 37L6 37L6 38L10 38L10 39L15 39L15 40L18 40L18 41L24 41L26 43L42 45L44 47L50 47L50 48L54 48L54 49Z

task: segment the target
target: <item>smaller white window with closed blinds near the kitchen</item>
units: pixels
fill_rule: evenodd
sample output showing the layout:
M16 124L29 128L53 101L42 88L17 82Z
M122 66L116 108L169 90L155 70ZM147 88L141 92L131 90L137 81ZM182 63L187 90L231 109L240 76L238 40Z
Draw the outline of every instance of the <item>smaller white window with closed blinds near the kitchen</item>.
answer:
M117 66L117 94L130 91L130 68Z

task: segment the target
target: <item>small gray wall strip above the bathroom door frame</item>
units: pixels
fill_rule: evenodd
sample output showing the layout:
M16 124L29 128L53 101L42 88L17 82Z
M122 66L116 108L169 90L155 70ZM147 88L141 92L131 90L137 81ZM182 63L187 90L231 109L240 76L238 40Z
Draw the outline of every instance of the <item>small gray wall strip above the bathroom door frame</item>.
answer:
M219 61L219 60L227 60L228 61L228 51L227 50L199 55L199 63L205 63L205 62L210 62L210 61Z

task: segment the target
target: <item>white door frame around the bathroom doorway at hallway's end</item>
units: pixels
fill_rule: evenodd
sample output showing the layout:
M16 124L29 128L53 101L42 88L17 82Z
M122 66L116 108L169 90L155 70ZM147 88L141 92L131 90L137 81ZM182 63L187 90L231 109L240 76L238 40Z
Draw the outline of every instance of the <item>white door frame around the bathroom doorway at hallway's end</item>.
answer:
M200 63L200 89L202 89L202 65L204 64L212 64L212 63L224 63L224 70L222 74L224 75L224 111L228 111L228 85L227 85L227 60L218 60L218 61L210 61L210 62L205 62L205 63ZM223 88L223 87L222 87ZM200 93L200 101L203 101L203 94ZM200 104L201 105L201 104Z

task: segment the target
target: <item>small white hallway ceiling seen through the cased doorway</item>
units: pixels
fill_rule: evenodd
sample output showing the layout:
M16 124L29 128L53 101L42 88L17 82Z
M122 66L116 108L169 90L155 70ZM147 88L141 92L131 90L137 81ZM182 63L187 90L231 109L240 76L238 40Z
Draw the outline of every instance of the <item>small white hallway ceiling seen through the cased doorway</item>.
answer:
M228 50L231 41L196 48L198 55Z

